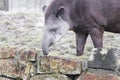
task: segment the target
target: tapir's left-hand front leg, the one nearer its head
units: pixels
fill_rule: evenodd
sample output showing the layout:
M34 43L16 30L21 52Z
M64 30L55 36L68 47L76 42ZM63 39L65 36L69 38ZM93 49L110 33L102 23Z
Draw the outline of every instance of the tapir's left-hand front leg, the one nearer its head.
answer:
M86 39L88 37L87 33L76 33L76 46L77 46L77 56L83 55Z

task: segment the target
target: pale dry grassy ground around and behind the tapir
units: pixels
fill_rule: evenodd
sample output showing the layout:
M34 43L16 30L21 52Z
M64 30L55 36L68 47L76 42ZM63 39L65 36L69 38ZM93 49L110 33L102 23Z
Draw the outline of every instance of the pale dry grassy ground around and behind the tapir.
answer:
M5 14L0 12L0 47L16 46L19 48L35 48L40 51L41 38L43 30L43 16L40 14ZM50 53L55 54L76 54L75 34L72 31L68 33L53 47ZM120 35L105 32L104 47L119 48ZM85 47L85 53L93 48L91 38L89 37Z

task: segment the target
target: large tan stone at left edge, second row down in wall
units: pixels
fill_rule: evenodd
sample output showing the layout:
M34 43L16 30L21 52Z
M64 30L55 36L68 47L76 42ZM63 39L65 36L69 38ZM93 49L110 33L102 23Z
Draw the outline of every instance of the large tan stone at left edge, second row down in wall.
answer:
M2 76L27 79L30 68L31 64L24 61L0 60L0 75Z

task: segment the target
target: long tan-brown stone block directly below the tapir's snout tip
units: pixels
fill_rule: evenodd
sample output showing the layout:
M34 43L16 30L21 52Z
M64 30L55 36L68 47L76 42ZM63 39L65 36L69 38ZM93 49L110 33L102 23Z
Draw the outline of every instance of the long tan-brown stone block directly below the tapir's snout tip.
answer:
M38 73L80 74L81 62L68 58L41 56L38 58Z

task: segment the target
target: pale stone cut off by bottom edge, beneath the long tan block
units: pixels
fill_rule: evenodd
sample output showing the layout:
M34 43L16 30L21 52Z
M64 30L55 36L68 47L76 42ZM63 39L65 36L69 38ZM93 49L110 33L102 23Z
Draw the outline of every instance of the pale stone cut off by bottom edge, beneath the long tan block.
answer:
M34 76L30 80L70 80L70 79L65 75L51 74Z

